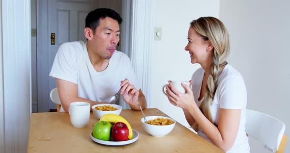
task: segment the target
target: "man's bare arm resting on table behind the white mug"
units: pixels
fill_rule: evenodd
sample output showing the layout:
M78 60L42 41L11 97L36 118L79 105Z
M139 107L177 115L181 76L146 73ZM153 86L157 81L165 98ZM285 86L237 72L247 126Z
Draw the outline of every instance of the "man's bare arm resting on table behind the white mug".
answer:
M63 79L56 78L58 95L61 106L65 112L68 112L68 107L72 102L89 102L91 106L109 102L94 102L85 98L78 97L78 85Z

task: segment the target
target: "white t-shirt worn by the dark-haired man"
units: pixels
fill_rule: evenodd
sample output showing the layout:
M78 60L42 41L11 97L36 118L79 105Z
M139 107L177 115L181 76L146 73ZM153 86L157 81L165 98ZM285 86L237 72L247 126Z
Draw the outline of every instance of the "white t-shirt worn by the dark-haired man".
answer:
M95 102L110 102L126 78L139 90L137 78L129 57L115 51L108 67L97 72L88 57L87 43L78 41L62 44L56 54L51 77L78 85L78 96Z

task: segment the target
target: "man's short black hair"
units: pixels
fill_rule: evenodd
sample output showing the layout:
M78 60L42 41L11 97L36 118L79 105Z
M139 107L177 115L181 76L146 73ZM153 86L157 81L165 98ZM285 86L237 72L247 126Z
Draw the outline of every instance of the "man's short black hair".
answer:
M90 11L87 14L86 27L91 28L93 30L93 32L94 32L95 29L100 24L100 19L105 19L107 17L116 20L119 25L123 21L122 18L120 17L120 15L116 11L114 11L114 10L112 10L110 8L97 8L97 9L95 9L93 11Z

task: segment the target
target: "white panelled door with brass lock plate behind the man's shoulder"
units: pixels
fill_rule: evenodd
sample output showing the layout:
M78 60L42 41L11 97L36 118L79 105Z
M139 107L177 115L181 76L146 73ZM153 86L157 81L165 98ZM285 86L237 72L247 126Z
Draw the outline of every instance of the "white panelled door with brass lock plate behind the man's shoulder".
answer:
M92 9L89 0L79 0L78 2L49 0L49 35L55 33L55 45L50 44L48 46L49 71L61 44L78 40L86 41L84 36L85 19L87 13ZM56 80L49 77L49 91L55 87ZM56 104L50 99L49 108L56 108Z

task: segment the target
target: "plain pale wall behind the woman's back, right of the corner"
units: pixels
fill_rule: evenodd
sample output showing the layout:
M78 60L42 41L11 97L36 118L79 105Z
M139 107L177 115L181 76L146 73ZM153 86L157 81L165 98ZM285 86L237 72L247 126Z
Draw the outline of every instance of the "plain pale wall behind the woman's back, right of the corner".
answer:
M229 62L245 79L247 108L283 121L288 136L289 6L289 0L220 0L220 19L231 36Z

